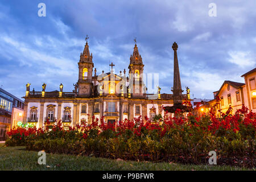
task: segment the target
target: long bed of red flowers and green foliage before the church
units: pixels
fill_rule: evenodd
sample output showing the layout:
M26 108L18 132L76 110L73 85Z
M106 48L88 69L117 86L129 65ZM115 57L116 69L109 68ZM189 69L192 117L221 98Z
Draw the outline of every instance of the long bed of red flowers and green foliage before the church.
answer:
M212 110L200 117L174 117L151 123L147 117L107 125L92 117L90 126L64 130L61 121L50 130L11 130L6 144L26 145L27 150L94 155L125 160L172 161L208 164L208 152L216 151L217 164L255 167L256 114L243 106L234 115L216 118Z

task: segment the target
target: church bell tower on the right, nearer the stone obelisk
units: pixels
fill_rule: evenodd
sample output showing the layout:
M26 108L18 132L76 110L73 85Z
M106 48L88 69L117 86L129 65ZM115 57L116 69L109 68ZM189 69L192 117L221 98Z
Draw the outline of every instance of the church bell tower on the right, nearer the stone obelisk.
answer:
M133 49L133 55L130 56L129 64L129 92L133 97L143 97L144 83L143 83L143 62L142 57L139 55L136 39L134 39L135 46Z

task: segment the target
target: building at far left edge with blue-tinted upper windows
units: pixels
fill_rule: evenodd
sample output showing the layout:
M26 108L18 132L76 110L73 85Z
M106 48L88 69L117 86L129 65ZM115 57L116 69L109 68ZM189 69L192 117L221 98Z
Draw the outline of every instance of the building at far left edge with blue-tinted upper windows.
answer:
M0 88L0 140L4 140L6 132L22 122L24 102L13 94Z

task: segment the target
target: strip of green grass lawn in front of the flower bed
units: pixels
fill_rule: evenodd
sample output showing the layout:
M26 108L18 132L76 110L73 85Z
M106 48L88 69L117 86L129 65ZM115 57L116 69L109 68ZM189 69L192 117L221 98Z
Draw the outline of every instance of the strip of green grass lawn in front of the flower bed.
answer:
M0 144L0 171L2 170L248 170L230 166L196 166L174 163L119 161L88 156L46 154L46 165L38 164L38 152L25 147L3 147ZM249 169L255 170L255 169Z

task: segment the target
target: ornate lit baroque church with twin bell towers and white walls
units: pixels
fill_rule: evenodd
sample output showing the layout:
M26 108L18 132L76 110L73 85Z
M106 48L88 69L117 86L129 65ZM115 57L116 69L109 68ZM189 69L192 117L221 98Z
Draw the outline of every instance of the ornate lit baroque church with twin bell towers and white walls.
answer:
M59 91L53 92L46 92L45 83L40 92L34 89L31 92L30 84L26 85L24 124L43 127L46 121L53 124L61 119L64 127L68 127L79 123L90 124L93 116L99 119L99 123L102 117L104 122L118 123L139 116L144 118L145 115L153 121L156 114L164 115L162 107L174 105L173 94L161 94L159 86L158 93L146 93L144 64L136 43L130 56L128 73L124 69L123 73L114 74L112 63L109 73L102 71L97 75L87 40L78 65L79 78L73 92L63 92L62 84ZM187 91L182 95L184 101L190 98Z

